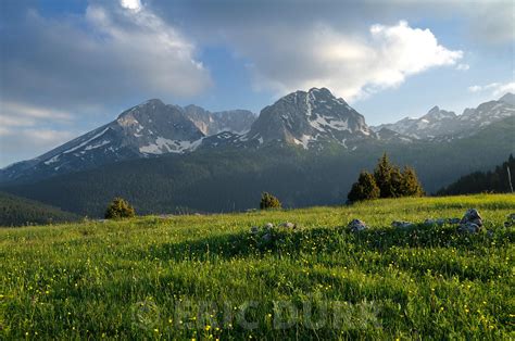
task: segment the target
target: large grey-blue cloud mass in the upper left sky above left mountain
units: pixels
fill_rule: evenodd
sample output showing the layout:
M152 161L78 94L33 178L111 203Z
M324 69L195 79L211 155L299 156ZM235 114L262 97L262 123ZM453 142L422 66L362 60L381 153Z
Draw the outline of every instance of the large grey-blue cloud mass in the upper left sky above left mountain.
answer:
M138 0L90 4L83 15L59 18L28 10L5 27L7 100L77 109L127 97L189 97L211 85L194 43Z

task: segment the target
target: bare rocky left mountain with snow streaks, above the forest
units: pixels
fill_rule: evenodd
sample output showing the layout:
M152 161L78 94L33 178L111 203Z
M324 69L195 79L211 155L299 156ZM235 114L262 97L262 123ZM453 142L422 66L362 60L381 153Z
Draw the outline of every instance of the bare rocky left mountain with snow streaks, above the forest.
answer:
M3 168L0 180L35 180L124 160L185 153L196 150L209 134L244 132L254 119L246 110L211 113L153 99L36 159Z

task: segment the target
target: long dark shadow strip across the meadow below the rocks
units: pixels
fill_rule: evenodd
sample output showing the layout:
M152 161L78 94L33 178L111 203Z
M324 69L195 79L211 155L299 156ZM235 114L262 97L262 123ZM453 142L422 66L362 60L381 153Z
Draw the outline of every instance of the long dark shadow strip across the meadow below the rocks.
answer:
M269 233L269 238L265 237ZM234 257L275 254L331 254L337 252L388 252L391 248L455 248L474 251L476 255L489 253L489 249L503 248L515 240L513 229L493 228L491 232L463 235L455 226L424 226L410 229L374 228L357 233L344 227L318 227L288 230L215 235L203 239L179 243L161 243L148 249L130 252L135 258L159 258L162 261L215 261ZM492 244L493 242L493 244Z

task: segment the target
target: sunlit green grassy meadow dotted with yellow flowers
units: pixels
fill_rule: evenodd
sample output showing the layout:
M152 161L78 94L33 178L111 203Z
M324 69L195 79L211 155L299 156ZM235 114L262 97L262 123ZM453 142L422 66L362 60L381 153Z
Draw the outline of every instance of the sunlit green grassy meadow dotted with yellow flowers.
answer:
M478 235L390 227L469 207ZM3 228L0 339L513 339L514 212L481 194Z

